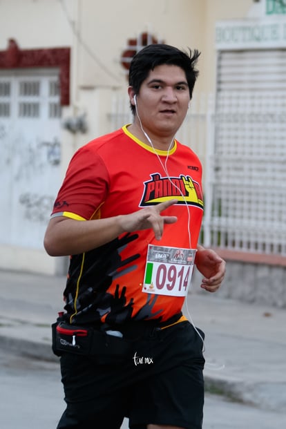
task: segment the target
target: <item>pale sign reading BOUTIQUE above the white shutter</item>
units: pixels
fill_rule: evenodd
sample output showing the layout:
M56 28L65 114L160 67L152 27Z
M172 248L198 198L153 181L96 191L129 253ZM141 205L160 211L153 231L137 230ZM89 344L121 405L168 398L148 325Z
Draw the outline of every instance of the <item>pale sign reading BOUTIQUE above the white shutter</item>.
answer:
M245 19L216 24L216 48L257 49L286 48L285 19Z

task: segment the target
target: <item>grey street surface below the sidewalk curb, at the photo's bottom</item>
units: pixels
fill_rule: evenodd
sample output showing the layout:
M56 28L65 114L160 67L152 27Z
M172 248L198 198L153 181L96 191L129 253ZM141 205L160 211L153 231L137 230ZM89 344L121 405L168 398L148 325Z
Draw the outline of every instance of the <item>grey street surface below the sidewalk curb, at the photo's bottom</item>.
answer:
M64 409L59 365L1 350L0 415L5 429L55 429ZM203 429L282 429L286 414L207 394ZM122 429L128 428L124 421Z

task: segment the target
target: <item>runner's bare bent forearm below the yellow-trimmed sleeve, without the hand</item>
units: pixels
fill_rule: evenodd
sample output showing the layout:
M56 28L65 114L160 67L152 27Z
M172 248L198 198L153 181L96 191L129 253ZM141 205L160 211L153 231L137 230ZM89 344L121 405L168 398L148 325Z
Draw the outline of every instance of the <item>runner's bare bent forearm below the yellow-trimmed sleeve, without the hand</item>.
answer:
M68 256L112 241L124 232L120 216L97 220L52 218L44 238L44 247L50 256Z

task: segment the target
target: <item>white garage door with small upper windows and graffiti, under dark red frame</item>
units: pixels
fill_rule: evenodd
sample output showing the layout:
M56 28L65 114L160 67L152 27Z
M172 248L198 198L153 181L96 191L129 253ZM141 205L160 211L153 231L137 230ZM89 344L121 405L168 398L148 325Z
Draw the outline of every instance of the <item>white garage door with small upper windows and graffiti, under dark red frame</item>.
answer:
M43 247L60 177L59 72L0 72L0 244Z

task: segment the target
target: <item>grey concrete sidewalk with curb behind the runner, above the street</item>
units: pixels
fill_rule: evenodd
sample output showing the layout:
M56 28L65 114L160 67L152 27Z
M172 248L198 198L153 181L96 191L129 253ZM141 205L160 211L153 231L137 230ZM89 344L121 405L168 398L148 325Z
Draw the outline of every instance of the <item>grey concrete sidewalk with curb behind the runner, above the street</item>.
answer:
M50 325L62 310L64 277L0 271L1 347L57 361ZM184 314L206 334L207 390L264 410L286 410L286 311L194 288Z

